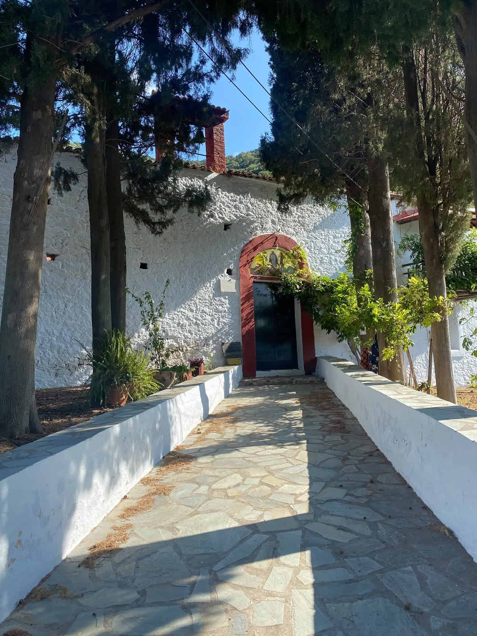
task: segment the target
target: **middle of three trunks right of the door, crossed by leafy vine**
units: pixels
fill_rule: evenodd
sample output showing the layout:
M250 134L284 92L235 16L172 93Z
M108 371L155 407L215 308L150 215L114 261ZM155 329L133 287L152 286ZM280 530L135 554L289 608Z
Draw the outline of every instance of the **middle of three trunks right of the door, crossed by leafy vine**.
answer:
M392 290L397 287L389 169L384 158L373 153L371 149L368 149L368 173L375 298L383 298L385 302L389 302L396 300L396 292ZM378 346L381 354L386 346L382 333L378 333ZM380 356L379 373L389 380L405 382L406 371L402 347L397 349L396 356L392 360L382 360Z

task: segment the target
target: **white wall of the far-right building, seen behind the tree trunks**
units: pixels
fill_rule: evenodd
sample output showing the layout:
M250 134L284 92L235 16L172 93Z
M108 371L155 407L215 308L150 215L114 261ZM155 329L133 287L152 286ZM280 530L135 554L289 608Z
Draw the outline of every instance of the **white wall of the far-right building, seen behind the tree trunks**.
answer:
M396 212L397 210L395 208L395 204L393 203L393 214L396 214ZM394 244L396 245L396 248L401 242L401 237L408 234L418 233L419 225L417 221L411 221L411 223L403 223L403 225L397 225L397 223L394 223ZM403 256L397 254L396 272L398 283L406 283L407 277L405 273L407 272L408 268L403 267L403 264L410 262L410 252L406 252L405 254L403 254ZM477 317L470 317L469 310L471 307L474 307L474 312L477 316L477 304L475 303L475 301L457 303L452 314L449 316L450 342L452 346L452 368L455 384L458 387L467 386L469 384L471 375L477 373L477 358L472 356L471 352L462 349L462 338L464 338L464 336L470 336L474 329L477 327ZM462 324L459 324L460 319L464 319L464 322ZM427 380L430 338L431 329L418 329L413 335L414 346L410 349L410 352L413 358L413 364L418 382L424 382L424 380ZM432 382L435 382L433 364Z

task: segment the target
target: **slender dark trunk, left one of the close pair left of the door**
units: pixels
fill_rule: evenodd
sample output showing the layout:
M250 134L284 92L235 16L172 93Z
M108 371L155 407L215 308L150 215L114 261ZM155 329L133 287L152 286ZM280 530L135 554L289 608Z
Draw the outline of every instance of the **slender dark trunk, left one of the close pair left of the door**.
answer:
M88 206L91 237L91 322L93 348L111 330L109 288L109 214L104 159L104 96L98 83L92 86L95 116L86 123L86 165L88 168Z

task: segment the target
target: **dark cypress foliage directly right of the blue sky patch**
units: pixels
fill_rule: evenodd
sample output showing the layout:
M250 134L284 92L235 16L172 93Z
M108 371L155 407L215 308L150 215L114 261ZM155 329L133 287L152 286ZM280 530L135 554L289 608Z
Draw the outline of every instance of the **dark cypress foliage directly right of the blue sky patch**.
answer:
M356 148L361 144L362 125L354 116L348 71L325 62L315 42L299 53L280 44L276 35L268 38L273 126L261 139L261 158L273 177L284 181L284 189L278 191L280 211L289 212L308 196L320 204L336 204L345 191L343 167L347 165L349 172L360 163ZM366 174L360 179L365 183Z

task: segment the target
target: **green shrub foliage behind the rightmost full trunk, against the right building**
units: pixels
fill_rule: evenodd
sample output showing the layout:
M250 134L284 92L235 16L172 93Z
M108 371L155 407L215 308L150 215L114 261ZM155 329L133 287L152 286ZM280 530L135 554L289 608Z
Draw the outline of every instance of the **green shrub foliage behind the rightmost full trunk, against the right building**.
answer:
M457 291L460 289L471 290L477 285L477 230L469 230L464 238L457 244L458 252L452 268L446 272L446 285L448 289ZM410 268L412 275L423 277L425 275L424 249L418 234L404 234L399 243L399 253L411 253L413 266Z

